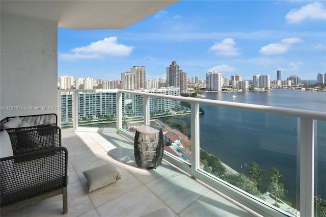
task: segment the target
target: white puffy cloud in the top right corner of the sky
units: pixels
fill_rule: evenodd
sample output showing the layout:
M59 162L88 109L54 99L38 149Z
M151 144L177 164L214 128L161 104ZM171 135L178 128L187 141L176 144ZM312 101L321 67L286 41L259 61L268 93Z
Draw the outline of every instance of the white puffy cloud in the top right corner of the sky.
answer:
M314 2L300 9L291 9L285 18L289 23L298 23L305 19L326 19L326 9L322 3Z

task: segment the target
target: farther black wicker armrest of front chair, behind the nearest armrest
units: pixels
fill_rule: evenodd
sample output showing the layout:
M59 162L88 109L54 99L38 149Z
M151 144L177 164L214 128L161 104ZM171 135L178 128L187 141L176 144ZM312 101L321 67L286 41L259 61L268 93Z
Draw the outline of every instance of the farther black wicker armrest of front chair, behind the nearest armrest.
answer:
M57 126L6 129L14 155L61 147L61 129Z

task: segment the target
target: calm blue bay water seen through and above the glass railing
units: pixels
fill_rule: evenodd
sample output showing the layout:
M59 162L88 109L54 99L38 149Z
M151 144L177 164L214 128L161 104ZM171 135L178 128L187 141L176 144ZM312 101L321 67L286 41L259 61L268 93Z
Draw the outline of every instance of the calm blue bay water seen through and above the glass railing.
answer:
M232 95L237 97L233 100ZM262 92L207 93L205 98L223 101L297 108L326 112L326 92L275 89ZM249 176L252 162L265 172L262 184L267 186L268 172L276 167L289 191L286 200L296 206L298 177L298 126L295 117L279 116L231 108L200 105L200 146L218 156L227 165ZM179 116L190 124L190 116ZM162 119L164 121L164 119ZM315 124L315 186L317 195L326 199L326 123ZM246 168L247 164L247 168ZM241 169L242 166L242 169Z

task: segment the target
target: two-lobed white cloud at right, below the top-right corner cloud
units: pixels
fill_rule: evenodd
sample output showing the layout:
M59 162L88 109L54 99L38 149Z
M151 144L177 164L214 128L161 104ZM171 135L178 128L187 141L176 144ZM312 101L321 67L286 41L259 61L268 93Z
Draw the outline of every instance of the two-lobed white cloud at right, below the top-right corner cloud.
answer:
M301 38L284 38L281 43L271 43L260 48L259 52L263 55L274 55L285 53L289 50L290 44L302 42Z

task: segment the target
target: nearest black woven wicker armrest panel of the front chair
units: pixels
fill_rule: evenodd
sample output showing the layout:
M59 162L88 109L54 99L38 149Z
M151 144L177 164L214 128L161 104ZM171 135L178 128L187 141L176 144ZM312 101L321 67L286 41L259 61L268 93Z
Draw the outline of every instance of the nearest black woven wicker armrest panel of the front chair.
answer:
M57 147L0 159L1 206L67 186L68 150Z

